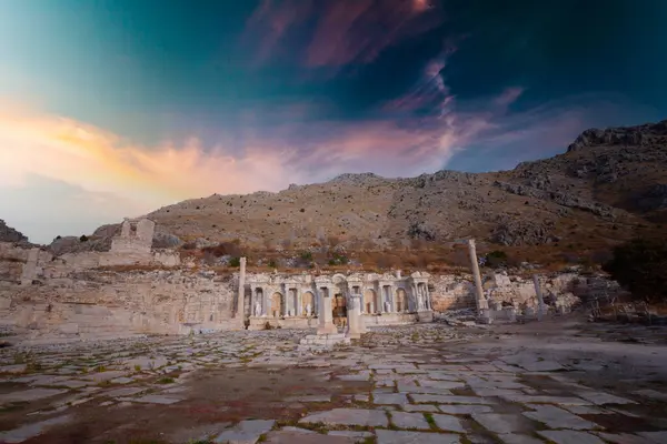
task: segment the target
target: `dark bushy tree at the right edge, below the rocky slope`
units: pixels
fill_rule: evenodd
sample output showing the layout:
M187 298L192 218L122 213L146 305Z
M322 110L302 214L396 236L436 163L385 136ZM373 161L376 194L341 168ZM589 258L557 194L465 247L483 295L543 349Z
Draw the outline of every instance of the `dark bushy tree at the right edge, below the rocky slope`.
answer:
M603 270L635 299L667 301L667 239L636 239L619 245Z

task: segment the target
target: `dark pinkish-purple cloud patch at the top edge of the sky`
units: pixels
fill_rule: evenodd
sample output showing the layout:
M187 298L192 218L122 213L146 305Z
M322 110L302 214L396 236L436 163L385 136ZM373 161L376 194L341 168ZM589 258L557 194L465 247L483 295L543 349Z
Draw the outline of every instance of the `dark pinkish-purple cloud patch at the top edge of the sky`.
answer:
M424 0L265 0L248 20L245 38L256 42L257 59L263 62L282 54L291 30L315 23L297 58L309 68L340 68L369 63L391 44L441 22L441 14Z

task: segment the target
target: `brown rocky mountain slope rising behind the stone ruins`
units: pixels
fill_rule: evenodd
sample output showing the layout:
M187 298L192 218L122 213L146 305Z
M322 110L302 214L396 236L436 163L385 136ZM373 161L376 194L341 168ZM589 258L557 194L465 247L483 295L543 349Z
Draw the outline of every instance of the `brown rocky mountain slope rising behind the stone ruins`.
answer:
M667 121L583 132L564 154L511 171L326 183L195 199L149 214L197 246L386 249L474 235L499 245L611 245L667 222Z

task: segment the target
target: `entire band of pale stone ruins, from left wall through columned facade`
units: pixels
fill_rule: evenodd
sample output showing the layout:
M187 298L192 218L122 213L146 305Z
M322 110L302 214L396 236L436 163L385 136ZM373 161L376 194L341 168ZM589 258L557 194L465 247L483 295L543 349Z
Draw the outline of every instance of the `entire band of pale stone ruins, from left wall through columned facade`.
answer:
M109 251L54 255L43 248L0 243L0 319L30 341L190 334L229 330L317 329L338 333L358 296L362 324L434 321L477 306L486 322L537 316L535 283L502 273L481 276L390 273L219 275L177 250L155 249L155 222L125 220ZM474 242L469 243L476 258ZM580 289L609 285L576 273L541 276L545 299L567 312ZM588 282L590 281L590 282Z

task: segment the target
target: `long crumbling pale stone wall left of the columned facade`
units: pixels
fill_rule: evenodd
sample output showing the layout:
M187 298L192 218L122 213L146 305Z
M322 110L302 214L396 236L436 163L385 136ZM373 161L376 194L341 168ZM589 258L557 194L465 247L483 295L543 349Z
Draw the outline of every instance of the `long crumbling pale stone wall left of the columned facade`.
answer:
M119 337L240 329L230 276L83 271L39 284L0 283L0 323L28 336Z

